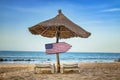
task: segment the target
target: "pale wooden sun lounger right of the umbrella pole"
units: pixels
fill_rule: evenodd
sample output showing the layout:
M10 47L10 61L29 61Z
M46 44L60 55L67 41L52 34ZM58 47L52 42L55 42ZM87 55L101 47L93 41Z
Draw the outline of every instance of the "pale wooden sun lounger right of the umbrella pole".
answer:
M65 70L78 70L80 72L78 63L62 64L61 73L64 73Z

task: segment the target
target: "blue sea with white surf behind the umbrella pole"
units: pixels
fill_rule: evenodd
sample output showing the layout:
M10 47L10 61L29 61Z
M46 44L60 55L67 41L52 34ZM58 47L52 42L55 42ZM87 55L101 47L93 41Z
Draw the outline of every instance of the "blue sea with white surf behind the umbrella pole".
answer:
M114 62L120 53L110 52L65 52L59 53L60 62ZM56 63L56 54L36 51L0 51L0 64Z

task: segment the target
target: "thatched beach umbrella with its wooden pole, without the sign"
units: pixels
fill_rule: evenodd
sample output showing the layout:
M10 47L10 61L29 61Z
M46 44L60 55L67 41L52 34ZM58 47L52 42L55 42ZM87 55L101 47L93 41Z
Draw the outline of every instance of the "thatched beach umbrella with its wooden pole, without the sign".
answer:
M91 33L87 32L77 24L69 20L61 10L58 15L52 19L40 22L35 26L29 28L29 31L35 35L42 35L44 37L56 37L56 43L59 39L67 39L72 37L88 38ZM60 71L59 53L56 53L57 72Z

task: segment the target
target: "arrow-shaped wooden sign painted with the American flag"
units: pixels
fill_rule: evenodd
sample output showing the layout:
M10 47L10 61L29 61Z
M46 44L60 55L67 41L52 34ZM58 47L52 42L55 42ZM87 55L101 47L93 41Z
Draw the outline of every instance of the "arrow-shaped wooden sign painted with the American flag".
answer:
M72 46L65 42L45 44L46 53L62 53L68 51Z

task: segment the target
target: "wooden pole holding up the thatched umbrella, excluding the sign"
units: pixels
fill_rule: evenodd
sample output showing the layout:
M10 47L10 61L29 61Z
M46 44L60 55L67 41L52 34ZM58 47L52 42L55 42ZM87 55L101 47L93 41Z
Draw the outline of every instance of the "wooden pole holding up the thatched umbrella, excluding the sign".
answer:
M60 27L57 27L57 32L56 32L56 43L59 42L59 37L60 37ZM59 53L56 53L56 60L57 60L57 73L60 72L60 60L59 60Z

